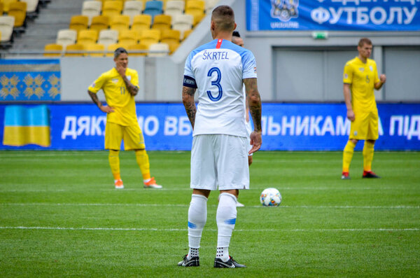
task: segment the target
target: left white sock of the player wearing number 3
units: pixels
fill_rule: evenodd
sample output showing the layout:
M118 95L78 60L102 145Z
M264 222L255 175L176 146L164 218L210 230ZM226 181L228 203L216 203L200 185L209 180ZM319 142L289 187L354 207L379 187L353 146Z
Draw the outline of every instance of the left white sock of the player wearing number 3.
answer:
M200 248L202 231L207 221L207 197L193 194L191 196L190 209L188 209L188 251L187 258L197 254Z

